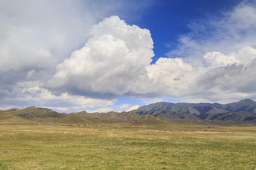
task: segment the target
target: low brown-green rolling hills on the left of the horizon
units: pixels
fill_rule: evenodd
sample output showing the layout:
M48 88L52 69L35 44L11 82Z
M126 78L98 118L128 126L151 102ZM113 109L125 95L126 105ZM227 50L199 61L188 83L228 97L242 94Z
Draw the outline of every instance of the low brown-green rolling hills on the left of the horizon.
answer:
M110 111L107 113L87 113L86 111L80 111L66 114L35 106L30 106L26 109L12 108L9 110L0 111L0 122L11 122L12 120L13 123L45 122L77 125L106 122L130 124L168 124L168 121L156 118L152 115L138 115L136 113L128 113L125 111Z

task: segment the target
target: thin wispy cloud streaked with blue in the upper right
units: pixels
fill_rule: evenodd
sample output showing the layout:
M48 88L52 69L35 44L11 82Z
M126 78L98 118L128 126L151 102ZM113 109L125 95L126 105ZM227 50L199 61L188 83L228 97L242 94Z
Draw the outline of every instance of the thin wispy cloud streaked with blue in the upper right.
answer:
M192 21L188 26L191 32L181 35L178 48L167 56L183 57L184 61L199 66L203 64L201 57L207 52L229 55L245 46L256 48L256 4L253 1L241 2L230 11Z

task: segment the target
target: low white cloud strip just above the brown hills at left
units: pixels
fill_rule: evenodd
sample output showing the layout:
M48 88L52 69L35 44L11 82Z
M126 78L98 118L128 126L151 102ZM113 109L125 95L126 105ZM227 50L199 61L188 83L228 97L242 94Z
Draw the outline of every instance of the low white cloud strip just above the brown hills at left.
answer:
M69 95L68 93L56 96L41 86L40 81L22 81L14 86L12 93L8 90L2 90L1 96L5 96L5 98L0 98L0 109L9 109L13 106L23 109L33 104L70 113L108 107L116 102L116 100L92 99L81 95Z

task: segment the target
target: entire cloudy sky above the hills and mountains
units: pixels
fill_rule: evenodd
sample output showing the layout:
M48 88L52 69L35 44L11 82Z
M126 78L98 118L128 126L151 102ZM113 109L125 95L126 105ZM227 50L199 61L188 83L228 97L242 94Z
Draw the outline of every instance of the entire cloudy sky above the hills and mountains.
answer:
M256 101L256 0L0 0L0 110Z

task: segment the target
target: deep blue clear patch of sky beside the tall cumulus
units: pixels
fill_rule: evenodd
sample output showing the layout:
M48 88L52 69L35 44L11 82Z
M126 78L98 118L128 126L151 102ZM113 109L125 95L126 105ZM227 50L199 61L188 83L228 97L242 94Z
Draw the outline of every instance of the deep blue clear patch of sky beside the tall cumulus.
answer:
M152 1L150 7L142 12L140 19L124 19L129 25L137 25L150 30L154 41L153 63L159 57L175 49L178 38L188 34L188 25L208 17L223 17L222 12L231 10L241 0L158 0ZM126 18L127 16L122 16Z

